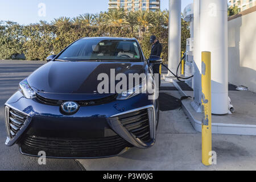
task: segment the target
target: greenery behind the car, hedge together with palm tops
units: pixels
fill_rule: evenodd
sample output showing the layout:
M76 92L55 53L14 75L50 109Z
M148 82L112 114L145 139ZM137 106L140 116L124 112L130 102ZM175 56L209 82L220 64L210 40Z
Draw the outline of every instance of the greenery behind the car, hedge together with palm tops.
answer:
M11 59L24 53L27 60L45 60L69 44L83 37L135 37L141 43L146 57L150 55L150 36L163 44L162 57L168 60L168 10L136 11L127 13L113 9L100 14L83 14L75 18L60 17L51 23L40 22L20 26L14 22L0 22L0 59ZM181 20L181 50L185 51L189 38L189 23Z

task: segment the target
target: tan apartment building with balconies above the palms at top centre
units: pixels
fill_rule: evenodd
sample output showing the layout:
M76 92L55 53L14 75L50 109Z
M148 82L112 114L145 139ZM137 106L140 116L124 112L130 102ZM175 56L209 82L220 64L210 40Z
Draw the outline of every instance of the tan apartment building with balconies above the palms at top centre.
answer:
M160 0L109 0L109 9L123 8L127 11L156 11Z

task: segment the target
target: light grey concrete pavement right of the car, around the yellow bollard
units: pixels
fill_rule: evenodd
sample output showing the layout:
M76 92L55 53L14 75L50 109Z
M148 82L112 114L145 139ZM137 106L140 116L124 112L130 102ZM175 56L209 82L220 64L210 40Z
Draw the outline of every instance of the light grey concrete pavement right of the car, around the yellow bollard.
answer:
M174 86L162 82L164 86ZM163 91L162 91L163 92ZM179 98L178 91L164 91ZM86 170L256 170L256 137L213 135L217 164L201 163L201 133L197 133L183 110L160 112L156 143L147 150L131 148L106 159L79 160Z

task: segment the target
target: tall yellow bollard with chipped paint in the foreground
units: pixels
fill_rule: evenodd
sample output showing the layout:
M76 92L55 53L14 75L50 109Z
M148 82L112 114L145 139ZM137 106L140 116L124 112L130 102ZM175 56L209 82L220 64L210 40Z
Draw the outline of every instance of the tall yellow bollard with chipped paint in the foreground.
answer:
M212 164L211 53L202 52L202 163Z

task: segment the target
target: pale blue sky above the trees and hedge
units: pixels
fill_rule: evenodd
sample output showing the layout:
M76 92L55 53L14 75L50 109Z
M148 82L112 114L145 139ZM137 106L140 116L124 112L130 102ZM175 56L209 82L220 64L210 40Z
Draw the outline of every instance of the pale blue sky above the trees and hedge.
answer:
M193 0L181 0L182 7ZM169 0L161 0L161 10L168 9ZM54 18L70 18L84 13L100 13L108 10L108 0L0 0L0 20L11 20L19 24L51 22Z

